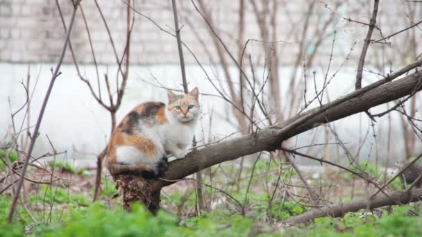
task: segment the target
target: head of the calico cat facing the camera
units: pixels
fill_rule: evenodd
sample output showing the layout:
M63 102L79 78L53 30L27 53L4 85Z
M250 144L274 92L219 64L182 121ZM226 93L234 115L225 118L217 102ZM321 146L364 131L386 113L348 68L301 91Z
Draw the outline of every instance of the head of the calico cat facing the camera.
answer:
M201 112L198 96L198 87L195 87L188 94L176 95L167 90L169 96L169 105L167 105L168 115L181 123L195 121Z

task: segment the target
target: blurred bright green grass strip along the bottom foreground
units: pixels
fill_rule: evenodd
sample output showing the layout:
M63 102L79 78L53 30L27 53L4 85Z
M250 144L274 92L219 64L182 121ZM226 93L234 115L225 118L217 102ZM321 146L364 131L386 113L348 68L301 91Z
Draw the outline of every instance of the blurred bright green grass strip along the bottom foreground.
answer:
M286 202L276 204L274 211L286 216L305 211ZM269 223L257 222L253 216L241 216L218 209L178 222L176 216L159 211L151 215L142 205L135 204L126 212L115 205L106 207L96 202L87 207L69 205L60 222L31 223L18 208L19 219L6 224L10 200L0 198L0 236L421 236L422 217L408 216L410 206L394 207L393 215L383 213L362 217L362 212L347 213L344 218L316 218L298 227L275 229ZM280 218L280 219L282 219Z

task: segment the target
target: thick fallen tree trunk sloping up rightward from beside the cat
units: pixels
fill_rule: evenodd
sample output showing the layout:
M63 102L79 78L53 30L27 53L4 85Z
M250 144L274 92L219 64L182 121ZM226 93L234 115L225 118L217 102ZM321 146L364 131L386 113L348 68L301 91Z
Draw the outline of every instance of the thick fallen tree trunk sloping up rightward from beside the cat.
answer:
M421 62L417 62L417 65L419 66ZM405 69L407 68L408 67ZM415 67L412 67L411 69L413 68ZM403 73L403 70L404 69L399 72ZM410 69L407 69L407 71L409 70ZM138 191L160 193L162 187L173 184L174 182L177 182L178 179L182 179L187 175L192 175L203 168L208 168L223 161L230 161L264 150L277 150L280 148L282 141L301 134L302 132L316 128L324 123L343 119L359 112L365 112L371 107L382 105L422 89L421 72L415 72L410 76L405 76L404 78L390 82L392 79L394 79L394 77L379 80L378 82L338 98L331 103L310 109L303 114L298 114L279 125L265 128L239 138L214 143L205 148L190 152L185 159L178 159L170 162L168 170L161 179L145 180L144 182L148 182L148 185L146 185L149 187L148 191L141 189L138 189ZM136 170L138 170L136 165L113 165L109 166L108 169L114 177L116 177L116 175L135 173ZM160 203L160 200L157 200L157 195L153 195L149 200L152 203ZM122 201L125 205L128 205L124 198ZM133 200L127 201L133 202Z

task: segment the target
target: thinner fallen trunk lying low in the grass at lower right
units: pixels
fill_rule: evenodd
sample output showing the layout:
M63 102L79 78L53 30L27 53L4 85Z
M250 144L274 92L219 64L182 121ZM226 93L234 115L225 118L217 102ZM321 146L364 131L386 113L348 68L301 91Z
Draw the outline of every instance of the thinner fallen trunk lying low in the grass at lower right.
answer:
M391 198L391 199L390 199ZM324 216L330 216L333 218L342 217L344 214L351 211L359 211L361 209L375 209L378 207L385 207L396 205L397 202L401 204L407 204L410 202L419 202L422 198L422 188L412 189L411 191L396 191L388 193L388 196L379 193L372 200L355 200L346 203L336 203L329 205L327 207L322 207L319 209L312 209L301 215L294 216L285 221L279 222L280 226L283 225L297 225L310 222L315 218L320 218ZM393 202L391 200L395 200Z

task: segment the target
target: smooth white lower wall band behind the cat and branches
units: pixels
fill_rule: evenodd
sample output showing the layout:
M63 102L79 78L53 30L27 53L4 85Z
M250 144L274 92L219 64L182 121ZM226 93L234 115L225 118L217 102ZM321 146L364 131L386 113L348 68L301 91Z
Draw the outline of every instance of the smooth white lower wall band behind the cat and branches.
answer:
M54 67L54 65L31 64L31 91L35 85L37 74L40 73L39 82L31 103L31 125L35 124L44 94L47 91L51 77L51 67ZM88 65L83 68L83 71L85 71L88 78L95 78L94 67ZM207 67L206 69L211 75L211 71L214 71L214 73L217 74L221 71L219 68ZM101 75L107 70L110 74L110 78L115 78L115 67L108 67L108 69L106 67L100 67ZM289 75L289 70L290 69L288 68L280 69L280 75L285 75L286 73ZM0 141L5 141L3 137L11 125L8 98L10 98L12 104L12 111L15 111L24 102L24 89L19 82L26 80L27 65L1 63L0 71L2 72L0 76ZM56 80L56 84L53 87L53 92L47 105L47 110L44 114L40 131L41 134L36 144L35 155L42 155L45 152L51 151L45 137L45 135L48 134L56 147L56 150L67 151L68 159L76 159L80 164L85 164L87 162L90 165L93 165L95 161L94 156L75 152L74 148L88 153L101 152L110 135L110 116L105 109L96 103L85 84L78 79L74 66L65 64L60 71L62 71L62 75ZM232 68L232 73L235 73L235 71L235 68ZM158 89L147 83L151 82L157 84L152 78L152 75L166 87L181 89L180 71L176 66L132 67L123 104L117 114L118 121L124 114L129 112L132 107L142 101L160 100L164 103L167 102L166 91L164 89ZM335 79L332 80L332 83L328 86L330 100L334 100L339 96L353 91L354 75L353 69L348 68L343 69L341 73L338 73ZM323 75L322 73L316 73L316 76L317 87L321 87ZM187 67L187 78L189 80L190 88L198 86L203 93L217 94L217 91L212 88L210 82L205 78L203 71L201 71L199 67ZM371 74L365 75L365 78L371 78L365 83L375 80L375 76ZM114 85L114 82L112 82L112 85ZM280 87L285 91L287 85L287 82L282 81ZM94 86L94 88L96 87ZM307 98L311 98L313 94L313 85L308 85ZM287 99L288 96L289 93L285 91L282 94L282 100ZM103 98L107 101L105 94L103 95ZM237 130L235 125L233 125L234 119L228 103L214 96L201 96L200 100L204 115L201 119L201 126L196 131L198 140L203 142L203 138L205 138L205 141L208 141L210 132L212 139L221 139ZM316 106L316 104L313 106ZM374 113L380 112L385 108L385 106L380 106L371 111ZM287 106L283 108L284 111L287 109L289 109ZM213 111L212 128L209 130L211 111ZM17 124L21 123L22 115L22 113L18 114L15 121ZM392 136L390 159L403 159L403 139L401 138L400 123L397 113L392 113L391 119ZM230 121L231 124L228 123L228 121ZM343 141L347 143L347 146L355 152L360 139L362 141L366 131L370 129L369 125L370 123L367 116L365 114L358 114L336 122L335 128L341 139L343 139ZM376 146L372 136L372 130L369 130L369 135L366 143L364 143L360 159L375 159L377 152L380 160L385 160L387 158L387 128L388 117L385 116L378 119L378 123L375 124L375 132L377 134ZM33 128L31 128L31 132L32 131ZM323 128L317 128L310 132L300 134L298 137L292 139L291 146L309 145L315 134L316 140L314 143L322 143L324 134ZM233 137L235 136L237 136L237 134L233 135ZM330 135L330 142L333 141L334 139L332 135ZM321 155L321 151L322 148L316 148L314 153L316 152L315 154ZM335 154L335 146L330 146L329 159L337 161ZM341 151L340 154L342 155L343 152Z

